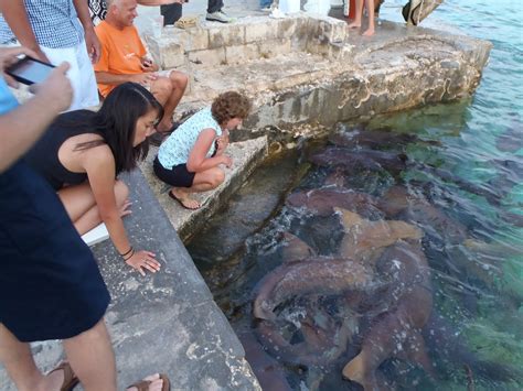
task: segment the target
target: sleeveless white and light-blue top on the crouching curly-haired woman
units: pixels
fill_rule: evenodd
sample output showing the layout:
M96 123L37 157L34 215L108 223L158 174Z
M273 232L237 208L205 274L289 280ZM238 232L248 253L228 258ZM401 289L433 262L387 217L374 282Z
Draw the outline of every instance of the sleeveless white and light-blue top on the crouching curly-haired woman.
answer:
M167 170L185 164L198 137L204 129L214 129L216 137L222 135L222 128L214 119L211 107L206 107L189 118L160 145L158 150L160 164ZM211 158L214 151L215 143L211 145L206 156Z

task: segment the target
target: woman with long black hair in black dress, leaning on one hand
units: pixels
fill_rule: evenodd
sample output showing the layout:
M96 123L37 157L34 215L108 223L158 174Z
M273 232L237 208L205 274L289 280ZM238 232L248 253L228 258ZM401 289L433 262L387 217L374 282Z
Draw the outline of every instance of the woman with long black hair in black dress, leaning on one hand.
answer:
M29 151L25 161L57 192L79 235L100 222L127 264L145 275L160 263L130 245L122 216L130 213L118 174L136 167L148 152L147 137L163 116L151 93L136 83L117 86L97 112L65 112Z

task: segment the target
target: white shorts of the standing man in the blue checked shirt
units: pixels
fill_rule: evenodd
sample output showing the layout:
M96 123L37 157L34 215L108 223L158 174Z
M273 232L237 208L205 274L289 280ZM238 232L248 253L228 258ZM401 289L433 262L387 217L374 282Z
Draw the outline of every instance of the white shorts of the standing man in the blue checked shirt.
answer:
M85 41L73 47L51 48L40 46L53 65L64 61L70 63L67 77L73 85L73 102L70 110L87 109L98 106L98 86L96 85L95 70L87 54Z

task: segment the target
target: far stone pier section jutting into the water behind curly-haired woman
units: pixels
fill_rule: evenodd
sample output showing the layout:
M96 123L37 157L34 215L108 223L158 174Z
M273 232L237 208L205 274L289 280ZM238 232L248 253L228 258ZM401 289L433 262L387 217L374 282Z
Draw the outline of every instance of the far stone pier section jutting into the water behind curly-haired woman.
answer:
M192 78L177 112L242 89L255 105L238 140L266 134L269 142L295 137L305 123L329 127L468 97L492 47L465 35L386 21L372 37L349 35L344 21L302 13L174 30L150 42L162 58L177 43Z

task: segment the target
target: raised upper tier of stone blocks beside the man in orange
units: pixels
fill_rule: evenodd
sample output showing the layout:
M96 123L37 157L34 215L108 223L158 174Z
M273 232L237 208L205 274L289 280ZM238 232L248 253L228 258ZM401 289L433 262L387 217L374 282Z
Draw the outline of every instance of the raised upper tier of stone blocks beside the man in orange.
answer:
M267 42L284 42L282 47L293 52L323 52L332 43L344 43L349 36L346 23L332 18L310 18L305 13L286 19L246 17L227 25L201 23L180 30L163 29L161 37L145 34L151 54L163 68L190 63L206 66L242 63L243 59L271 57ZM245 52L249 56L238 54ZM287 53L289 53L288 51ZM278 52L275 52L276 54Z

